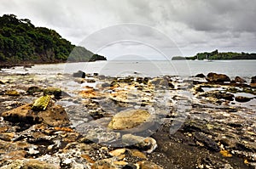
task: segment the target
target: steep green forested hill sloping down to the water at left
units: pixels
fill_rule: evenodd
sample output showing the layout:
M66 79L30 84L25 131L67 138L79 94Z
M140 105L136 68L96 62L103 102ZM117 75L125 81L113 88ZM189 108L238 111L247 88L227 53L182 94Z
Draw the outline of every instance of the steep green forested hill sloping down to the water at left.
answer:
M0 17L0 63L58 63L67 58L73 62L106 60L76 47L54 30L32 25L30 20L19 20L14 14Z

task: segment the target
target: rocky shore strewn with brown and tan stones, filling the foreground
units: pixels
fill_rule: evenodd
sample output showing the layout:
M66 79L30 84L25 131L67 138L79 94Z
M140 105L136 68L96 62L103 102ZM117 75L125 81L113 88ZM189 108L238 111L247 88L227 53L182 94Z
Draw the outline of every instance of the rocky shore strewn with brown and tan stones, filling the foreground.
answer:
M0 75L0 168L255 168L256 76Z

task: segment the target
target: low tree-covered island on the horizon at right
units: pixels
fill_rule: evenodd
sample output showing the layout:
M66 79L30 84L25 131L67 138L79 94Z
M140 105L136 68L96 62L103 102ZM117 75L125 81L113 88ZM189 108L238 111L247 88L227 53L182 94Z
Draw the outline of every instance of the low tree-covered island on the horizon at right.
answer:
M181 59L192 59L192 60L203 60L203 59L256 59L256 54L247 54L247 53L234 53L234 52L223 52L219 53L218 50L214 50L212 52L204 52L195 54L195 56L191 57L183 57L183 56L174 56L172 60L181 60Z

